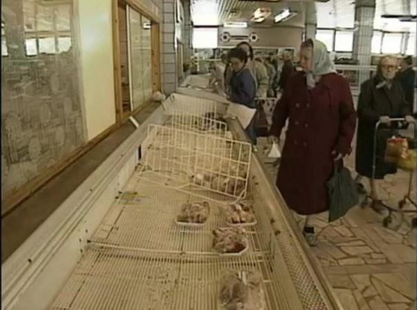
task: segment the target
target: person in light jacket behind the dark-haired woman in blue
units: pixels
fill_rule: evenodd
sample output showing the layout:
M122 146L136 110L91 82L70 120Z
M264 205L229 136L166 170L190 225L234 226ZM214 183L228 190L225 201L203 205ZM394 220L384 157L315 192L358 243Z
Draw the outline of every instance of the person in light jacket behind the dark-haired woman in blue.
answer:
M256 97L265 98L268 92L268 72L266 72L265 66L254 60L254 50L249 43L240 42L236 47L243 49L247 55L247 63L245 67L247 67L252 73L252 76L254 76L256 83ZM232 72L233 70L231 70L231 68L226 72L226 76L224 78L226 90L230 89Z

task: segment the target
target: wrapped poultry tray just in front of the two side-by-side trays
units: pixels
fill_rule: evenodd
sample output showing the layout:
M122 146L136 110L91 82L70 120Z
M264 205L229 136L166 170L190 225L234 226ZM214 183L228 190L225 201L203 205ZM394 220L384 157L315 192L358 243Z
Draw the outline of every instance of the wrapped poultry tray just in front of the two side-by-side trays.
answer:
M213 230L213 248L225 253L240 253L247 247L245 230L238 227L218 228Z

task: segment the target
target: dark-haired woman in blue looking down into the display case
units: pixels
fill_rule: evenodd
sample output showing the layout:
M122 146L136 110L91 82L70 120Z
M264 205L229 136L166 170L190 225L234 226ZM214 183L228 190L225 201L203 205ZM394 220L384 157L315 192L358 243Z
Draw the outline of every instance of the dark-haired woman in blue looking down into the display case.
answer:
M246 66L247 54L243 49L234 48L229 51L229 63L231 72L229 99L236 104L243 104L249 108L256 108L256 83L254 76ZM246 129L246 133L256 145L256 133L254 120Z

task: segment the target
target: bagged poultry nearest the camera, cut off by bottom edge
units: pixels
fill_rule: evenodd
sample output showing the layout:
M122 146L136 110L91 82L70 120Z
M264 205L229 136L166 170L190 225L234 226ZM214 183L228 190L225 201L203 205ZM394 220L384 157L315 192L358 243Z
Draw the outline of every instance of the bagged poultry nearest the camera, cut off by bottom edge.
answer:
M230 270L222 279L220 304L224 310L264 310L262 277L257 272Z

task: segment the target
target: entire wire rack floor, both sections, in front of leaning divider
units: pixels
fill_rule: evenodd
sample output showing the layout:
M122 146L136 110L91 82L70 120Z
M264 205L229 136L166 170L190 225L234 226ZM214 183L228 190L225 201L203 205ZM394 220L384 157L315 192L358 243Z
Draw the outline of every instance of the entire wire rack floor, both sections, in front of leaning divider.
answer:
M220 309L226 270L259 272L268 309L302 309L261 202L254 204L259 225L246 229L247 253L220 256L211 251L211 231L225 226L223 204L211 203L202 229L179 227L179 206L198 199L139 174L126 186L130 199L108 212L51 309Z

